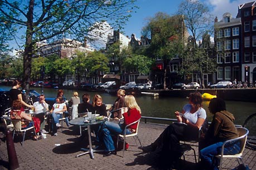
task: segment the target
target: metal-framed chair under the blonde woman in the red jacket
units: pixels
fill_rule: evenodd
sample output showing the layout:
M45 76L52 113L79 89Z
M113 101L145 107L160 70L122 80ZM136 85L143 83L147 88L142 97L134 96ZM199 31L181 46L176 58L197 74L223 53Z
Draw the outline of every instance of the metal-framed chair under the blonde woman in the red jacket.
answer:
M136 142L136 139L135 137L137 137L138 141L139 141L139 144L141 144L141 141L139 140L139 137L138 137L138 129L139 129L139 122L141 121L141 119L138 119L138 121L135 121L131 124L128 124L127 126L125 126L124 128L124 134L118 134L117 136L117 148L118 148L118 140L119 140L119 137L122 137L124 139L124 144L123 144L123 157L124 157L124 150L125 150L125 141L126 141L126 138L127 137L133 137L134 138L134 141L136 143L136 145L138 146L137 142ZM119 122L120 123L120 122ZM129 128L131 125L133 124L137 124L137 129L136 129L136 132L132 133L132 134L126 134L126 129ZM141 147L142 147L142 144L141 144Z

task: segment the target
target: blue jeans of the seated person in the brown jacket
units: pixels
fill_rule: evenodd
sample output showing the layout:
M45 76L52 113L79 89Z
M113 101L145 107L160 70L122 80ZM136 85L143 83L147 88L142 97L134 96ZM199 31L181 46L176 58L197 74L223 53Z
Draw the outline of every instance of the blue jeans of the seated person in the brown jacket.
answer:
M216 155L221 154L221 147L224 142L212 144L200 151L200 158L204 161L206 169L219 169L218 164L214 164L213 159ZM236 154L240 151L240 141L232 142L225 145L224 154Z

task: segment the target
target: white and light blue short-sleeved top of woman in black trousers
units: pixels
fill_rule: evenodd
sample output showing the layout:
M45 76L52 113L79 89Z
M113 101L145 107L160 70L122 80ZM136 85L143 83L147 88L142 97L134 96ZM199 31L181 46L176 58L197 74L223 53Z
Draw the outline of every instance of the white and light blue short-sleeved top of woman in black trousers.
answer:
M186 104L183 107L184 117L188 119L191 123L196 124L197 118L203 118L206 119L206 112L204 108L199 108L195 113L191 113L190 110L192 108L191 104Z

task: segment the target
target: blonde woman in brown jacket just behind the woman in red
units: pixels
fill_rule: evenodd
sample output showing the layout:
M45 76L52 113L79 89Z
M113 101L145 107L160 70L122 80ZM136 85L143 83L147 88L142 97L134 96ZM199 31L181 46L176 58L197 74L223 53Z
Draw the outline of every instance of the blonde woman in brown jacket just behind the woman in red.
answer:
M114 119L120 119L122 118L122 111L115 111L119 108L125 107L125 103L124 103L124 96L125 96L125 91L124 89L119 89L117 91L117 99L115 100L114 104L113 104L113 118Z

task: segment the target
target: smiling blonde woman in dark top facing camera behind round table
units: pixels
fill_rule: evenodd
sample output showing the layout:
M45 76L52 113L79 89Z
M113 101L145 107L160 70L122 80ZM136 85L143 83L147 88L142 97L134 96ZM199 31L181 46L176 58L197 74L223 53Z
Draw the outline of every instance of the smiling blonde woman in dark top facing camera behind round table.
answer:
M100 116L107 116L107 109L102 102L102 96L95 94L93 98L93 110L94 113L100 114Z

